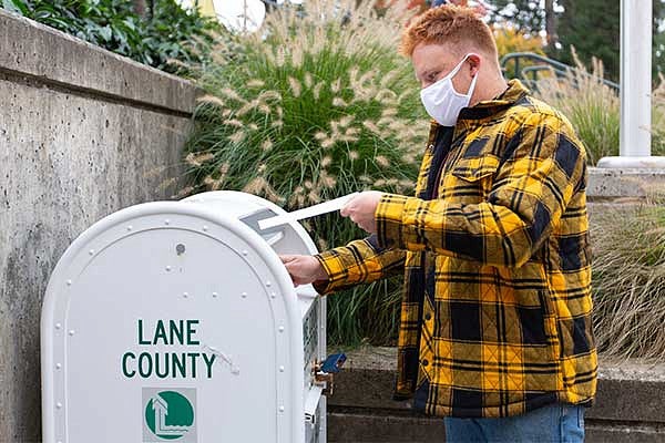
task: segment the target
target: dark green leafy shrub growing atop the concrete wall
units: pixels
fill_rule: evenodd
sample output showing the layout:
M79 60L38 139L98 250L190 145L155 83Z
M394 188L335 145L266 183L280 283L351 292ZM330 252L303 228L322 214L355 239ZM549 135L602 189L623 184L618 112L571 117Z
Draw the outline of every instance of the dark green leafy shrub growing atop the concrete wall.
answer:
M222 29L175 0L154 0L149 18L140 18L131 0L2 0L2 6L109 51L181 74L187 73L184 65L204 61L213 33Z

